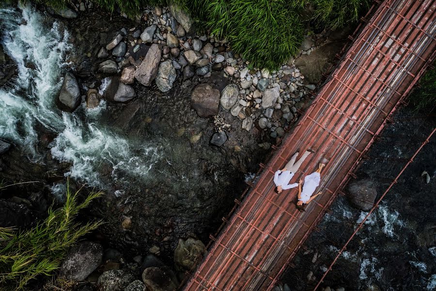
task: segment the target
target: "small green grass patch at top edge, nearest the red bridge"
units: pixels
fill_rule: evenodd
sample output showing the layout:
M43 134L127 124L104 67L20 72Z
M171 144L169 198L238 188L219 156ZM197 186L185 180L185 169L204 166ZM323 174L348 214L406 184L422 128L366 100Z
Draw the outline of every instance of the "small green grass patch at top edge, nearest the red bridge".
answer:
M368 10L369 0L311 0L315 6L313 17L327 29L342 28L356 23L362 12Z

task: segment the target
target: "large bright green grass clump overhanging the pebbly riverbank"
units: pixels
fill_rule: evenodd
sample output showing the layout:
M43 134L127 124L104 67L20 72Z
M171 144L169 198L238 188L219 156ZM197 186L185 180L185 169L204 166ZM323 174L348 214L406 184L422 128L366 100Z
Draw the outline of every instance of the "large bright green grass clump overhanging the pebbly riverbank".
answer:
M230 41L253 67L275 69L294 55L303 38L301 0L185 0L199 27Z

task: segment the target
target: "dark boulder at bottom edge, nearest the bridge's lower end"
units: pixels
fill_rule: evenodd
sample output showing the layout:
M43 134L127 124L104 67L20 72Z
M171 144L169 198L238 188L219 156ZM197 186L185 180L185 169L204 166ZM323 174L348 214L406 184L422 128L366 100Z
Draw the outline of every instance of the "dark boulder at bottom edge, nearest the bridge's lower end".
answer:
M148 291L173 291L179 287L174 273L167 267L149 267L142 273Z

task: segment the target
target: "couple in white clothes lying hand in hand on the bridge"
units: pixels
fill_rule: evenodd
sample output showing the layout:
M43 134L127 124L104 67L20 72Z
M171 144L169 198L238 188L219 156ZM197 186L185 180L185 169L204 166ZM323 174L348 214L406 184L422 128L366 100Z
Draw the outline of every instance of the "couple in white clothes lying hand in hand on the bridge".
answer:
M313 172L312 174L304 178L302 191L302 179L300 179L298 183L289 184L289 181L292 179L292 177L294 177L294 174L296 173L296 171L298 171L298 168L311 153L312 151L306 151L303 156L296 162L296 158L298 156L298 152L296 152L292 156L291 160L289 160L289 162L284 166L284 168L281 170L277 170L277 172L274 174L274 183L277 186L276 192L278 194L280 194L283 190L295 188L296 186L298 186L298 201L296 203L297 206L308 204L316 196L321 194L321 192L319 192L318 194L312 196L313 192L315 192L315 189L316 187L318 187L321 180L321 170L326 166L323 163L319 164L318 170L316 170L316 172Z

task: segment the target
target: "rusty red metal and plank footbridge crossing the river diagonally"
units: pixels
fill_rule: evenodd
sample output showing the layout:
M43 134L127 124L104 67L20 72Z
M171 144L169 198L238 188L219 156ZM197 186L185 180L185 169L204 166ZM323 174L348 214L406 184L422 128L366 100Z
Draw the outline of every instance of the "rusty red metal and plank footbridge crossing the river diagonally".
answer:
M436 0L384 1L314 103L283 141L184 290L271 290L285 266L353 175L402 98L435 57ZM274 192L274 172L296 152L315 151L291 182L327 159L307 207L296 189Z

